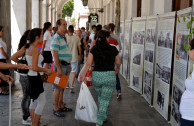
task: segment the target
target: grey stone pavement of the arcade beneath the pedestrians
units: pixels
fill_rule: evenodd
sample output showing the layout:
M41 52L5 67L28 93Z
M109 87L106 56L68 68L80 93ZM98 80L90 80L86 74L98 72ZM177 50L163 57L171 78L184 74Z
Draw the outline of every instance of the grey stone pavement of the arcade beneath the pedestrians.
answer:
M114 91L110 106L108 122L103 126L170 126L167 121L154 109L149 107L148 103L140 94L127 87L127 82L120 77L122 86L122 100L116 99ZM65 90L64 101L73 112L65 113L65 118L57 118L52 114L53 95L52 86L45 84L47 103L44 108L41 122L48 126L95 126L93 123L86 123L75 120L75 106L79 95L80 84L76 81L75 93L71 94L69 89ZM91 87L91 93L97 101L95 90ZM20 84L12 88L12 126L22 126L21 110L22 91ZM0 96L0 126L8 126L8 106L9 96Z

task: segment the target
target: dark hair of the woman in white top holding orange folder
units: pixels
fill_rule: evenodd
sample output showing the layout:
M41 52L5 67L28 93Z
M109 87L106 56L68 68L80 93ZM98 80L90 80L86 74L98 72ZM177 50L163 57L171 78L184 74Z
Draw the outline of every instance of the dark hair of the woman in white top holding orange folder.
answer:
M34 28L30 31L30 33L28 34L28 40L29 43L26 44L26 48L29 48L30 44L32 44L35 39L36 36L40 37L42 33L42 29L41 28Z

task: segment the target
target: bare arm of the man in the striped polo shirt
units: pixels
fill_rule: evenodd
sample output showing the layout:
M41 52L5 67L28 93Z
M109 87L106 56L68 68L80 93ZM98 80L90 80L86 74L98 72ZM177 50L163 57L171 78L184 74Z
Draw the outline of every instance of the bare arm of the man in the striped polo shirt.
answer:
M55 65L57 67L57 76L61 77L62 70L61 70L61 66L60 66L58 51L52 50L52 54L53 54L53 58L54 58Z

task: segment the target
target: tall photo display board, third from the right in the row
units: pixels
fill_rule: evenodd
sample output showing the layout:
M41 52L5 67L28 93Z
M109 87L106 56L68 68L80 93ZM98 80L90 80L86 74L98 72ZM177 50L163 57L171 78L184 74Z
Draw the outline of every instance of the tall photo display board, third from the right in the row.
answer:
M156 16L147 17L143 71L143 96L149 104L153 99L154 64L156 46Z

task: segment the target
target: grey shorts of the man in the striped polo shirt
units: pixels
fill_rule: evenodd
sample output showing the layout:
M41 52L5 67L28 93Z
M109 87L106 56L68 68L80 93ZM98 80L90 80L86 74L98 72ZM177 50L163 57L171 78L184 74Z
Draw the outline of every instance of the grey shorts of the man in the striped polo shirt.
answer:
M70 65L60 65L61 66L61 70L62 70L62 74L66 75L66 76L69 76L70 74L70 71L71 71L71 66ZM54 64L53 65L53 70L57 72L57 67L56 65ZM63 88L59 87L59 86L56 86L56 85L53 85L53 87L55 89L58 89L58 90L62 90Z

